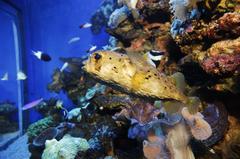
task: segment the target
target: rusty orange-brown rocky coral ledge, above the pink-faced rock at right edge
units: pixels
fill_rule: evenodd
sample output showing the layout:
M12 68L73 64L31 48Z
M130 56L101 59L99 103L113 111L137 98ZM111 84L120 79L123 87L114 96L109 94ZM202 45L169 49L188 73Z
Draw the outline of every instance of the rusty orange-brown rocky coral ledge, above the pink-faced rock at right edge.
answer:
M240 14L236 12L225 13L222 17L210 23L206 23L203 20L193 21L189 29L183 34L176 36L174 40L180 47L186 46L186 49L182 48L184 53L191 54L193 52L192 49L194 49L192 46L202 45L201 42L206 39L214 42L239 36L239 23Z

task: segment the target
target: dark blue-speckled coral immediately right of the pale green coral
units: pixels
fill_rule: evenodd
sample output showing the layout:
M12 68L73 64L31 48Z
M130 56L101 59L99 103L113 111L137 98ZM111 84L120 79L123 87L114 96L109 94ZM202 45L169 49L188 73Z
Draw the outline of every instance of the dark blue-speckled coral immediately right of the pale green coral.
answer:
M111 116L99 116L95 113L88 118L83 118L78 127L81 129L81 133L84 133L84 138L89 140L89 151L94 152L86 158L99 158L103 154L113 153L113 140L120 131ZM79 133L77 134L79 135ZM82 152L79 157L86 154L88 151Z

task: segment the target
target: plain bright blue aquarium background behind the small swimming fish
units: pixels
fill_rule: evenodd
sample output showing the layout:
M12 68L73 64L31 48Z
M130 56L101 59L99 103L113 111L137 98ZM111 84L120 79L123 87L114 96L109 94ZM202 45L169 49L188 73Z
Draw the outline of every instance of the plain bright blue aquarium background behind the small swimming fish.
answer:
M18 102L28 103L39 98L59 97L64 99L67 107L71 107L73 104L64 93L50 93L46 86L51 82L53 70L63 65L60 57L81 57L92 45L101 48L108 42L104 29L98 35L93 35L90 29L79 29L81 24L90 21L101 3L96 0L60 0L57 3L49 0L1 1L0 74L9 72L10 79L0 83L1 101L9 100L17 105ZM15 15L10 15L7 10L15 12ZM14 48L16 39L12 20L16 23L18 48ZM69 44L68 41L74 37L80 40ZM52 61L38 60L32 50L48 53ZM19 54L18 59L16 54ZM19 84L16 81L16 63L27 75L27 80ZM18 89L21 91L20 101ZM31 110L24 114L23 120L29 124L39 118L41 116Z

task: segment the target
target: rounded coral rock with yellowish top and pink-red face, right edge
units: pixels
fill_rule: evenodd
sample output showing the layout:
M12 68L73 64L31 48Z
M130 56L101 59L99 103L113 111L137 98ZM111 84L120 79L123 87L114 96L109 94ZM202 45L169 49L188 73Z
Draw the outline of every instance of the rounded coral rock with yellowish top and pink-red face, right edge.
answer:
M202 68L212 74L238 73L240 65L240 38L214 43L207 51L194 57Z

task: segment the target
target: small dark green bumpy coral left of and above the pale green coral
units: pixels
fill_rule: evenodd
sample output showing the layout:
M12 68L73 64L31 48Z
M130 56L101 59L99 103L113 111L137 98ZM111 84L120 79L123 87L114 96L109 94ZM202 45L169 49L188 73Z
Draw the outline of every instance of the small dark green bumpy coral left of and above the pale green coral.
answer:
M55 122L52 116L45 117L37 122L31 124L27 129L27 135L29 140L32 141L35 137L37 137L43 130L56 126L57 123Z

